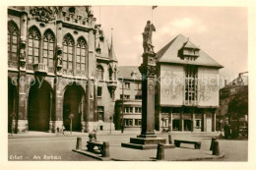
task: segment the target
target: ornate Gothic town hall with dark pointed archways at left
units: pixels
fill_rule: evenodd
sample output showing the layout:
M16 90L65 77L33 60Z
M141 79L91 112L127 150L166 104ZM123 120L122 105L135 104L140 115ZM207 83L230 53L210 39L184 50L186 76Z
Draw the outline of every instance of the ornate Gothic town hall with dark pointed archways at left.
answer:
M116 74L92 7L8 7L9 133L109 129Z

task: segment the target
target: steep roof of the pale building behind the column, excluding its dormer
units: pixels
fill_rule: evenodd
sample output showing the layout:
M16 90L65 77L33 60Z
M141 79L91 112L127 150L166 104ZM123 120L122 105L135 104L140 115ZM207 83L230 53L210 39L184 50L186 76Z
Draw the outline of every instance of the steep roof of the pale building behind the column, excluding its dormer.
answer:
M198 48L193 42L188 40L184 35L178 34L174 39L167 43L157 53L157 62L159 63L174 63L184 65L198 65L223 68L221 64L215 61L211 56L205 53L202 49L199 50L199 57L195 61L183 60L178 56L178 51L184 46Z

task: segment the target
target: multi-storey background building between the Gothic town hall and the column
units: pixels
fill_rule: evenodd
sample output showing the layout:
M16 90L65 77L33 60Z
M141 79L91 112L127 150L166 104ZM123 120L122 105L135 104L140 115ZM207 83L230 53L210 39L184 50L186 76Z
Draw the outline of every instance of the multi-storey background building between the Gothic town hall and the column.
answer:
M138 66L120 66L117 75L113 119L115 129L120 130L123 123L124 131L140 131L142 126L142 75Z

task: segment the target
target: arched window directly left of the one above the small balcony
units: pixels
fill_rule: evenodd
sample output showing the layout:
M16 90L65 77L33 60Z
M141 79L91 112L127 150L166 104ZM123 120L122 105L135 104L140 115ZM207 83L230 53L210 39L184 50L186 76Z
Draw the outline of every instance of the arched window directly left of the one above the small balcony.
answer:
M38 28L32 27L29 29L29 64L36 64L39 62L40 38L41 36Z

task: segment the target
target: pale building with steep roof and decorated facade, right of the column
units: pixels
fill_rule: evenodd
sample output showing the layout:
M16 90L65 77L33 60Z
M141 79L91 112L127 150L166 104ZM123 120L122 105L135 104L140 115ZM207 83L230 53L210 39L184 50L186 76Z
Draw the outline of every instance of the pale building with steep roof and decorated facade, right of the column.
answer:
M211 56L182 34L157 53L157 129L215 132L219 69Z

